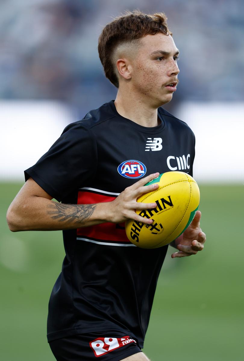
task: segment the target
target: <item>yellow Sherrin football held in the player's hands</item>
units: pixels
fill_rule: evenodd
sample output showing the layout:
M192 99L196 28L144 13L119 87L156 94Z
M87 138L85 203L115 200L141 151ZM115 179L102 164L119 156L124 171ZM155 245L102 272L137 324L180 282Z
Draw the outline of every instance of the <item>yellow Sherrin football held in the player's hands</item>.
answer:
M128 239L141 248L162 247L176 239L190 225L200 202L198 184L187 173L163 173L145 186L152 183L158 183L158 189L143 194L137 202L156 203L156 208L136 213L153 222L145 224L133 219L125 222Z

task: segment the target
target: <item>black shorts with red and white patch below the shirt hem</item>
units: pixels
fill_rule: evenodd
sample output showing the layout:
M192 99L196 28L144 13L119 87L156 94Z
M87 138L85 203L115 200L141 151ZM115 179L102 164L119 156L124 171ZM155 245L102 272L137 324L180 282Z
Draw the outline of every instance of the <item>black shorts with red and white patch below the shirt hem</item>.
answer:
M136 340L123 332L96 332L49 343L57 361L120 361L142 352Z

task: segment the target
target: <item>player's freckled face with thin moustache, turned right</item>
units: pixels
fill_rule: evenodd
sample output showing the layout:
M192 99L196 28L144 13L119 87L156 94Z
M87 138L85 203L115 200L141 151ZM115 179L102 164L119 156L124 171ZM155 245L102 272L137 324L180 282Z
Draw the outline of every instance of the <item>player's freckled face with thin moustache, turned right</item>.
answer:
M146 35L132 60L133 90L152 106L168 103L178 83L178 49L170 35ZM167 86L174 83L173 87Z

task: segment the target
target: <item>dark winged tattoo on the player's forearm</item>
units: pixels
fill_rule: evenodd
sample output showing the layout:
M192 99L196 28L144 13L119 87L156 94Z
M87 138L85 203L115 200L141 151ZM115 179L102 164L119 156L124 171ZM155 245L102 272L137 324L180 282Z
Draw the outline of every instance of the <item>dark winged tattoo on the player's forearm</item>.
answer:
M84 221L84 219L89 219L94 209L96 208L96 204L62 204L53 202L48 206L50 210L47 214L52 215L52 219L58 219L59 222L74 222L80 223ZM51 210L52 209L52 210Z

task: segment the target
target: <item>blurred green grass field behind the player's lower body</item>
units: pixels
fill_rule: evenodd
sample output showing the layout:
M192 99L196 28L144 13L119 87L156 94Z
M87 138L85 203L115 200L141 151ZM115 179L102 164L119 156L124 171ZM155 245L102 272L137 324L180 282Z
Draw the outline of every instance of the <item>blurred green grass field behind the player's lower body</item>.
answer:
M49 295L64 256L62 232L8 230L21 184L0 184L0 355L54 361L46 342ZM200 186L205 249L160 274L143 351L152 361L244 360L244 186ZM85 360L84 360L85 361Z

